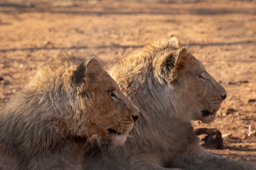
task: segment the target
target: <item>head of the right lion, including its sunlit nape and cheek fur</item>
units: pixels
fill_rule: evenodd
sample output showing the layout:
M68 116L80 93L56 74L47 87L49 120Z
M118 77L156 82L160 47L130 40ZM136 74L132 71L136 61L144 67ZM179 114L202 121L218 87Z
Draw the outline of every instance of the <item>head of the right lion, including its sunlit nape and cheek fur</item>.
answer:
M147 112L171 112L183 120L214 120L225 89L207 73L204 66L179 41L172 37L146 45L136 50L111 69L110 75L116 80L127 97L146 97L132 100L140 104L139 109ZM140 94L137 94L140 93ZM155 112L157 112L155 111Z

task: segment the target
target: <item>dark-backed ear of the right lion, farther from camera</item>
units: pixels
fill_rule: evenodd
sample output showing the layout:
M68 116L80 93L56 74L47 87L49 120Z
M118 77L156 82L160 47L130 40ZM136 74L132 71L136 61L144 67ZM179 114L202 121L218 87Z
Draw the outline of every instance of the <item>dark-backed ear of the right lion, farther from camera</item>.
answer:
M183 64L183 56L186 49L174 49L160 54L154 63L155 77L160 83L171 83L174 80L175 70Z

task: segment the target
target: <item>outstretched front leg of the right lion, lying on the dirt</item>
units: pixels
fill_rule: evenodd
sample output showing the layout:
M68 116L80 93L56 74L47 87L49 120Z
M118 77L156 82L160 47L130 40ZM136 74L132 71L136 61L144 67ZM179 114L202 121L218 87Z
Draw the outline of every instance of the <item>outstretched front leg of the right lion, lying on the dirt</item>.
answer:
M178 156L172 166L187 170L256 170L253 164L209 153L199 144L190 146L186 153Z

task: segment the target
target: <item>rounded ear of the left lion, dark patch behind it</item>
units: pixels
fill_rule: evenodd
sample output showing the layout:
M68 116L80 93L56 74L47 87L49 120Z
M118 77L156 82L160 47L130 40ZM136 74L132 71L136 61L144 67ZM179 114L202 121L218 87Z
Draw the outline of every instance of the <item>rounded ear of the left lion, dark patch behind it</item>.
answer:
M76 88L78 94L93 90L101 80L102 66L98 59L89 59L79 64L73 72L71 85Z

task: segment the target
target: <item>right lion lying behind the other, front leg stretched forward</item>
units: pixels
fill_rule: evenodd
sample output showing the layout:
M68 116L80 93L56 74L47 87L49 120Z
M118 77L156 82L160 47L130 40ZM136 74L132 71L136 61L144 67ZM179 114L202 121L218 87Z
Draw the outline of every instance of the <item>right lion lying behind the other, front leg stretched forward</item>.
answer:
M135 50L109 74L138 107L140 120L122 147L99 136L91 138L84 169L256 169L200 145L191 120L212 122L227 94L177 38Z

